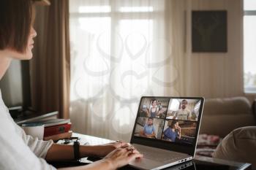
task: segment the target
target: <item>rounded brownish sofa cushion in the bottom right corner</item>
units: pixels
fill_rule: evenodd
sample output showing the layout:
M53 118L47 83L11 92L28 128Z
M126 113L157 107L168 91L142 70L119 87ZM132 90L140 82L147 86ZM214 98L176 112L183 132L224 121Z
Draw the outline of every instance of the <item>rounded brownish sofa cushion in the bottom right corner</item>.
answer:
M213 158L252 163L252 169L256 169L256 126L230 132L218 145Z

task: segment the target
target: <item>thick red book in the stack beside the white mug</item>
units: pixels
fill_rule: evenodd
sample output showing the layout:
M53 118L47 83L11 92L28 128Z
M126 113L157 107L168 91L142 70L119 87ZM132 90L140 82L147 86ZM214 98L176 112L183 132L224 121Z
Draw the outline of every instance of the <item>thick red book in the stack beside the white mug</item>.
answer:
M68 132L71 128L71 123L65 123L62 125L53 125L45 127L44 136L52 136L55 134L62 134Z

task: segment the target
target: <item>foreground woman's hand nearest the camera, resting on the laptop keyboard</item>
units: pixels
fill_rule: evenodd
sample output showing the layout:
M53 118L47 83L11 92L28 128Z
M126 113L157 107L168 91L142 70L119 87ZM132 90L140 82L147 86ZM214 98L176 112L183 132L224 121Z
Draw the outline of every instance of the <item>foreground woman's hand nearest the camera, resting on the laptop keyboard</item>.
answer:
M135 150L134 147L124 147L113 150L108 155L105 156L103 160L109 161L113 165L113 169L118 169L121 166L127 165L130 161L135 158L142 158L143 155Z

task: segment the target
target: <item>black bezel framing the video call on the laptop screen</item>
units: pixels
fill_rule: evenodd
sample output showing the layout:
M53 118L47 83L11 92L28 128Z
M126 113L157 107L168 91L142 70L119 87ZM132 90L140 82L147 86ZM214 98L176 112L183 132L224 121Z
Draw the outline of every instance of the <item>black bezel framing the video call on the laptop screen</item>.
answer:
M200 104L200 109L199 109L199 114L198 114L198 119L197 119L197 128L196 128L196 134L195 134L195 140L192 144L182 144L182 143L175 143L175 142L166 142L166 141L162 141L159 139L148 139L145 137L140 137L140 136L134 136L135 134L135 128L136 128L136 123L139 117L139 111L140 111L140 104L143 100L143 98L176 98L176 99L198 99L201 101ZM165 149L165 150L172 150L172 151L176 151L176 152L183 152L183 153L187 153L188 155L192 155L194 157L195 155L195 148L197 145L197 136L199 133L199 129L200 129L200 122L201 122L201 118L202 118L202 114L203 114L203 105L204 105L204 101L205 99L203 97L167 97L167 96L142 96L140 98L140 104L138 106L138 112L137 112L137 116L135 119L135 125L133 127L133 131L132 131L132 137L131 137L131 144L143 144L146 145L148 147L157 147L160 149ZM169 101L170 102L170 101Z

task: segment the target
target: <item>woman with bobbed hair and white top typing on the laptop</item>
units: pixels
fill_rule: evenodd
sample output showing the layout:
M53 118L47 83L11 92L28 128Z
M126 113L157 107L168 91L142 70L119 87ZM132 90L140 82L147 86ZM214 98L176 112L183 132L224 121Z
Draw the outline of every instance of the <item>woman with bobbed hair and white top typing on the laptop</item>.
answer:
M12 59L32 58L36 31L32 27L30 0L0 1L0 80ZM22 128L10 117L0 91L0 169L55 169L46 161L72 160L74 150L70 145L53 144L26 136ZM135 158L141 158L132 146L114 142L98 146L80 146L81 158L94 155L105 157L89 166L64 169L117 169ZM45 161L46 160L46 161Z

